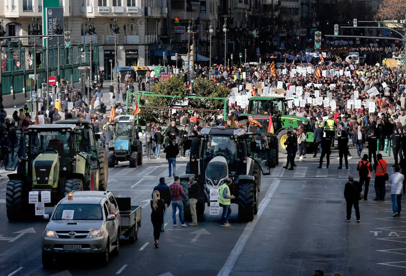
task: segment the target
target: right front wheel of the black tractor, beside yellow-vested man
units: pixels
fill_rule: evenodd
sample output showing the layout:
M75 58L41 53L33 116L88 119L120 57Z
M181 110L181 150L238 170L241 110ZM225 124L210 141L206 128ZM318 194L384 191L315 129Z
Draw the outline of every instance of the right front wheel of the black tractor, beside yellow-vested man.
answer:
M238 190L238 219L240 221L253 221L255 208L255 184L254 182L240 184Z

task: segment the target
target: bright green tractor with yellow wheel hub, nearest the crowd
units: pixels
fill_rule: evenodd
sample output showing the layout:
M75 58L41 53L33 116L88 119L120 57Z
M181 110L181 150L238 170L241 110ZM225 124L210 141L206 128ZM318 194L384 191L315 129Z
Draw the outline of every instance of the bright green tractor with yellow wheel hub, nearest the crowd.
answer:
M240 122L248 119L248 116L254 116L255 120L266 127L263 131L268 133L268 123L270 114L274 123L274 132L279 141L279 151L287 153L285 141L287 139L287 131L296 127L303 127L306 133L306 145L313 149L313 131L310 129L310 119L300 116L292 116L287 113L287 101L284 96L269 96L269 97L251 97L249 99L248 113L238 117Z

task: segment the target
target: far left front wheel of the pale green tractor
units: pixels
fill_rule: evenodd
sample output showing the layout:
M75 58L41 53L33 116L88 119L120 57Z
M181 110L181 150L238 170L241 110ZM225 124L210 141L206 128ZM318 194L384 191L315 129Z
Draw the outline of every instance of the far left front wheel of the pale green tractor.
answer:
M22 180L10 180L6 188L6 209L9 221L24 219L23 206L23 182Z

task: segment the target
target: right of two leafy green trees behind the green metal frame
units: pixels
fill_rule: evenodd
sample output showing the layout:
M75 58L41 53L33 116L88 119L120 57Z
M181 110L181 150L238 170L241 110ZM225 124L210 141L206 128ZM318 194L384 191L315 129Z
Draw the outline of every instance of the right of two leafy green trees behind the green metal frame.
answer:
M230 94L230 90L223 85L217 86L216 83L202 77L195 79L193 91L198 97L207 97L206 99L188 99L188 106L196 109L222 110L224 109L224 100L210 98L226 98ZM205 118L207 115L212 116L215 112L199 111L199 113Z

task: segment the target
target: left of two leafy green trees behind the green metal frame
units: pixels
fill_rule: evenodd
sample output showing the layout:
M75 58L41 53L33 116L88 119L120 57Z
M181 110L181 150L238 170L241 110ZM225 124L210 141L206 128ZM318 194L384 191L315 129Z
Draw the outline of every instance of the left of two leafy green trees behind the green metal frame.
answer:
M166 96L181 96L185 94L185 87L183 81L175 76L167 79L166 81L155 83L151 88L151 94L154 95L166 95ZM128 99L127 114L133 114L134 103L137 101L137 94L133 94ZM141 96L140 105L156 106L156 107L172 107L175 104L179 104L183 101L182 98L175 97L158 97L158 96ZM143 107L141 108L140 123L145 123L146 121L159 120L163 114L167 114L169 117L170 110L165 108L151 108Z

